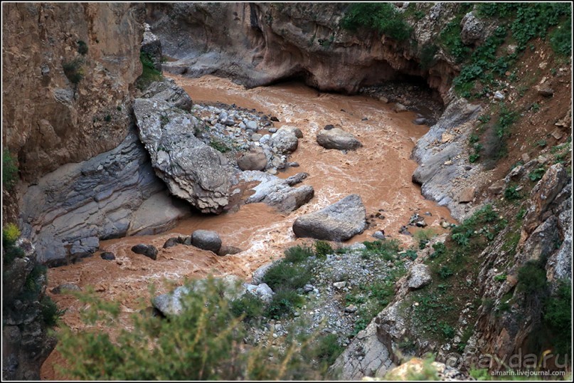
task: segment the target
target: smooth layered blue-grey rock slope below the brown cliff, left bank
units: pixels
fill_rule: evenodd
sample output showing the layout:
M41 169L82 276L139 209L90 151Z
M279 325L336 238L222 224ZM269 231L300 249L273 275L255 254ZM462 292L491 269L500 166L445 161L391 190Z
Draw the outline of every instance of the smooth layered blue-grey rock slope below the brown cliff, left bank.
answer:
M154 234L189 214L166 195L136 132L110 152L46 174L20 206L23 235L48 266L94 253L98 239Z

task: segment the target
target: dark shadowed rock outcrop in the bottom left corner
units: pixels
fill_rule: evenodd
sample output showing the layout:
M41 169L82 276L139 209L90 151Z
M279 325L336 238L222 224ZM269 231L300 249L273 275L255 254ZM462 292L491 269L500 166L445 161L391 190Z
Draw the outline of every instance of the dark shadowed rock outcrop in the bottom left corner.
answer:
M40 367L56 345L43 316L46 275L38 272L32 244L20 240L17 246L23 257L4 265L2 275L2 380L40 380Z

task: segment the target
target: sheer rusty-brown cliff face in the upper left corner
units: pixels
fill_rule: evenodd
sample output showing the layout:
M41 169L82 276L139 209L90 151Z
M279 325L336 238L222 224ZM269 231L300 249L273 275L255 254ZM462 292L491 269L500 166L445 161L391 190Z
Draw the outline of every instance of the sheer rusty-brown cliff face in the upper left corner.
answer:
M4 4L2 138L22 179L122 142L142 73L143 18L143 6L129 3ZM64 73L75 60L77 84Z

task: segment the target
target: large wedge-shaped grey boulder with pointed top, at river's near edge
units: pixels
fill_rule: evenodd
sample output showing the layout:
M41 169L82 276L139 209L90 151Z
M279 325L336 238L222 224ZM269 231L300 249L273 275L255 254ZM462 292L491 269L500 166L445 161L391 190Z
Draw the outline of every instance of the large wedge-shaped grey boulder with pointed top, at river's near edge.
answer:
M326 241L346 241L366 228L366 212L361 196L351 194L335 204L299 216L293 224L297 237Z

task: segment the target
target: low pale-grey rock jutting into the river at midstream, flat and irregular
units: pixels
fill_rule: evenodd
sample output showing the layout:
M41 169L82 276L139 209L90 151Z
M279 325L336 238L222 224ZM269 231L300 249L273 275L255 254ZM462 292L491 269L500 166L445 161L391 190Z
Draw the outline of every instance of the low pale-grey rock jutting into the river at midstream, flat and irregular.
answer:
M315 192L313 187L299 184L308 176L307 173L297 173L287 179L281 179L264 172L247 171L240 174L244 182L259 182L253 187L255 193L245 199L245 204L257 204L262 202L282 213L289 213L311 201Z

